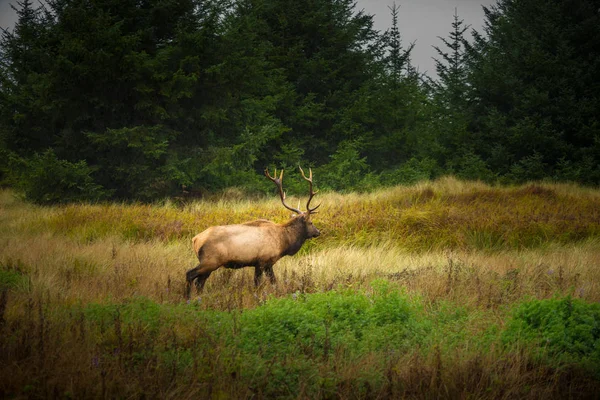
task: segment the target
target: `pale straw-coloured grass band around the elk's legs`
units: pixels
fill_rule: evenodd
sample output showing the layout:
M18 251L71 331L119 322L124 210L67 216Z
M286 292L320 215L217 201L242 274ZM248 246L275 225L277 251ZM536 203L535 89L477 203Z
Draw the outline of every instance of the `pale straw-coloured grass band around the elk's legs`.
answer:
M61 302L97 302L146 296L157 302L183 301L184 276L195 266L187 241L127 242L106 238L82 244L56 234L16 236L1 242L4 268L25 273L27 296ZM268 296L368 287L386 278L431 300L496 307L525 296L571 293L600 301L600 246L555 245L544 249L411 253L382 244L341 246L286 257L275 266L275 286L252 284L251 268L220 269L207 282L203 307L254 307ZM232 294L231 288L238 293ZM231 303L233 302L233 303Z

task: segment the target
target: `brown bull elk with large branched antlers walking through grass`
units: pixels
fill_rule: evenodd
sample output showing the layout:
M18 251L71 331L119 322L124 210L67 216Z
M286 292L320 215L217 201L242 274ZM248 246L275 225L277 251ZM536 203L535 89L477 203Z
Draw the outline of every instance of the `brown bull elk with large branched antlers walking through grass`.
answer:
M300 168L302 178L308 182L308 201L306 211L293 208L285 203L283 191L283 170L279 178L277 169L274 175L265 169L265 176L279 189L279 197L285 208L296 213L289 221L277 224L266 219L245 222L236 225L212 226L194 236L192 244L199 264L186 273L186 297L190 297L192 282L196 280L196 289L201 292L210 274L220 267L243 268L254 267L254 285L260 284L263 273L271 283L275 283L273 265L284 256L293 256L300 250L307 239L321 234L311 221L312 214L321 205L310 208L315 196L313 191L312 169L306 177ZM300 205L298 205L300 207Z

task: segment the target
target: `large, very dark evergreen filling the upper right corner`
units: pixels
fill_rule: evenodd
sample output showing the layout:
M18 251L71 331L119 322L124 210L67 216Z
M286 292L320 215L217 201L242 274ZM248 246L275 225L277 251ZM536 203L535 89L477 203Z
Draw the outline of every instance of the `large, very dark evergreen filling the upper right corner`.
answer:
M598 1L501 0L485 12L469 48L477 152L512 179L600 182Z

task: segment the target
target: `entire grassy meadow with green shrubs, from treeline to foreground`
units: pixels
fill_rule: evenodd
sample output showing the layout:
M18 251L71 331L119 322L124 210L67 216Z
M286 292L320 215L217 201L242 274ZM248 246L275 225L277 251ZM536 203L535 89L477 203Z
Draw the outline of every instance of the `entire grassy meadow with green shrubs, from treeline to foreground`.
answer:
M0 397L597 396L600 190L442 178L317 197L322 234L275 285L220 269L188 301L190 239L283 222L276 196L0 191Z

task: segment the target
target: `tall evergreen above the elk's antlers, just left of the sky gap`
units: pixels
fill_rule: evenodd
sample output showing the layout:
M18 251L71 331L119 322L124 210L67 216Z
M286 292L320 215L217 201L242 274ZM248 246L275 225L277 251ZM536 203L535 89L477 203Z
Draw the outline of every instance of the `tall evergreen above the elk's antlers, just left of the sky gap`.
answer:
M376 38L372 17L356 13L352 0L247 0L263 24L266 56L291 85L275 116L290 128L276 146L324 163L344 140L336 129L356 92L371 79Z

